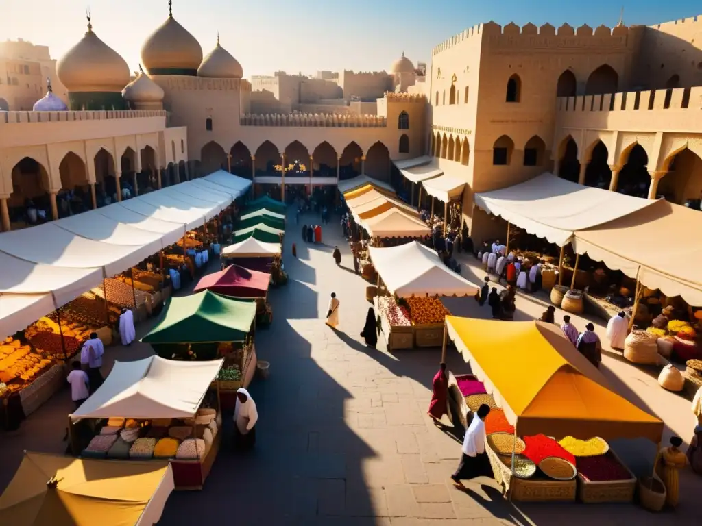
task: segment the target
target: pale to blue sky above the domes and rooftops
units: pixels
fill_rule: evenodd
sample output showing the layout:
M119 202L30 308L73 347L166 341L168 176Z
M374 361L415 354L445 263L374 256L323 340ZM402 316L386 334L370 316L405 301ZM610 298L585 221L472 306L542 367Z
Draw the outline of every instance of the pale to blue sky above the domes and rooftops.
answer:
M93 30L137 69L141 43L168 16L167 0L0 0L0 39L48 45L60 58ZM404 51L430 61L432 46L480 22L519 25L563 22L614 26L621 6L627 25L653 25L702 13L691 0L174 0L173 16L208 53L221 43L244 67L244 76L276 70L314 74L321 69L388 69Z

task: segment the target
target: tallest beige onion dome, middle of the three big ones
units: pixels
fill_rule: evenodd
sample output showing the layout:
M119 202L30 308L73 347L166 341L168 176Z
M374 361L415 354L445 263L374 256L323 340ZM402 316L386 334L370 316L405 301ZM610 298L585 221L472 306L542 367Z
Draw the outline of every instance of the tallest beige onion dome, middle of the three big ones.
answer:
M141 62L150 75L196 75L202 48L187 29L176 22L168 1L166 22L141 47Z

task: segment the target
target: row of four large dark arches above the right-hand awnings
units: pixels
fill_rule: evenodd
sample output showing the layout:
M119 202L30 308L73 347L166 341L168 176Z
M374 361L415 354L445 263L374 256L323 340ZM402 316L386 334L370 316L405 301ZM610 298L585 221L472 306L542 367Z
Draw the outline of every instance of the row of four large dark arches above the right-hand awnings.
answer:
M609 151L601 140L580 156L578 144L568 136L558 154L555 173L565 180L629 196L664 197L671 203L700 208L702 159L687 147L670 154L659 171L649 168L649 156L637 142L623 149L615 163L609 161Z

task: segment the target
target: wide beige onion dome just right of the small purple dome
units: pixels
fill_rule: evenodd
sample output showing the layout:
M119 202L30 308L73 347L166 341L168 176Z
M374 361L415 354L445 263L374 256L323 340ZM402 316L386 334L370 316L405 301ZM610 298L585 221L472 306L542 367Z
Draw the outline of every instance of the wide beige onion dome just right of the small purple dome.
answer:
M129 82L129 67L119 53L88 32L56 65L58 78L69 92L119 93Z

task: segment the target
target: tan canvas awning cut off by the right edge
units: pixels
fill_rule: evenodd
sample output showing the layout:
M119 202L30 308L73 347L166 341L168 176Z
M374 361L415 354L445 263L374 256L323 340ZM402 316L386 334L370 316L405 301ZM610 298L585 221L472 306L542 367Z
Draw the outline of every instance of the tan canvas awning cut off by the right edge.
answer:
M631 278L638 272L648 288L702 306L702 274L694 264L702 254L702 213L665 199L648 202L629 215L576 231L576 252ZM664 240L664 247L654 240Z

